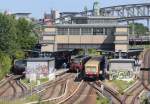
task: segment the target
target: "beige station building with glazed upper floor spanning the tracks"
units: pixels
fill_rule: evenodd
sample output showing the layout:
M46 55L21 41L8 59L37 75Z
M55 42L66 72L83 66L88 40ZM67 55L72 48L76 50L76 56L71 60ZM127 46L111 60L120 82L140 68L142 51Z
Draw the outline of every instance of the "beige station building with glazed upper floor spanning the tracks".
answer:
M127 52L128 26L119 24L117 17L100 15L97 3L94 5L92 15L73 15L65 22L60 19L59 23L45 25L41 51L96 48Z

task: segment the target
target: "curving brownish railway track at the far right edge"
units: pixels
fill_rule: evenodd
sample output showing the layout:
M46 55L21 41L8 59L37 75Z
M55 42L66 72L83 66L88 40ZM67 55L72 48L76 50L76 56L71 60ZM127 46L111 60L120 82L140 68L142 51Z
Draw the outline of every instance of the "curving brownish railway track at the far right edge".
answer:
M144 58L143 58L143 68L150 68L150 49L147 50L144 53ZM131 89L129 89L125 94L124 94L124 98L122 101L122 104L137 104L138 103L138 96L139 94L144 90L148 90L150 91L150 88L148 88L149 84L145 84L145 79L148 79L148 73L142 71L142 78L139 81L138 84L136 84L135 86L133 86Z

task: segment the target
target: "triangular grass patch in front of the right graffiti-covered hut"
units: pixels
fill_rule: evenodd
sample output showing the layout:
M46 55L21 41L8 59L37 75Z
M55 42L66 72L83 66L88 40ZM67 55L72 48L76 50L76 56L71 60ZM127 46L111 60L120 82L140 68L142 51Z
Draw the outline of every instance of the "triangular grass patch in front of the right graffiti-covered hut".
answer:
M112 80L109 81L110 83L112 83L113 85L115 85L118 88L118 91L120 93L123 93L123 91L128 88L129 86L131 86L134 81L123 81L123 80Z

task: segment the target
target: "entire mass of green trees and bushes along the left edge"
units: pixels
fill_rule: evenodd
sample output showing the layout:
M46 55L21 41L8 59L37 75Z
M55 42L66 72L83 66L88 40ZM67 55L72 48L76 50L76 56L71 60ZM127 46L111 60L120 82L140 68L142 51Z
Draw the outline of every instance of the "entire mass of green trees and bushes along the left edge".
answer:
M36 44L33 29L34 25L24 18L17 20L0 13L0 79L10 72L13 60L24 58L24 50Z

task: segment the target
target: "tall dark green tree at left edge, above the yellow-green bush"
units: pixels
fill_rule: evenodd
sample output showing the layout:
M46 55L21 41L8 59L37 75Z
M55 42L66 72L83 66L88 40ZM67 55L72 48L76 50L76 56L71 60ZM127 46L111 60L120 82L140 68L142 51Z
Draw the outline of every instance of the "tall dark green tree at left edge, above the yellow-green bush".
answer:
M16 20L0 13L0 51L12 55L18 48L16 43Z

